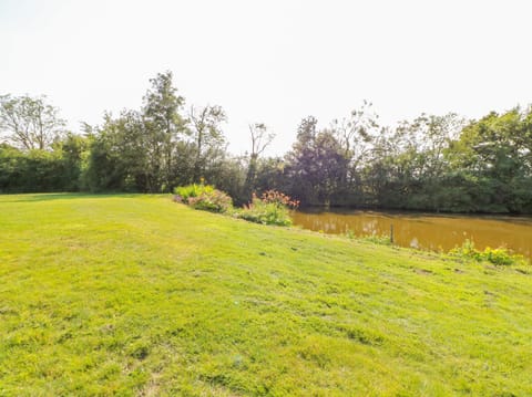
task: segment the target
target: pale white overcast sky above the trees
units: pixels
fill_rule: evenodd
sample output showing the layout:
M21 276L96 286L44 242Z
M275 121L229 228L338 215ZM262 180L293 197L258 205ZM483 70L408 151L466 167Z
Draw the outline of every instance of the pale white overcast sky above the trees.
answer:
M0 94L45 94L70 126L139 108L171 70L191 104L225 108L287 152L303 117L326 127L364 100L385 124L477 118L532 103L529 0L0 0Z

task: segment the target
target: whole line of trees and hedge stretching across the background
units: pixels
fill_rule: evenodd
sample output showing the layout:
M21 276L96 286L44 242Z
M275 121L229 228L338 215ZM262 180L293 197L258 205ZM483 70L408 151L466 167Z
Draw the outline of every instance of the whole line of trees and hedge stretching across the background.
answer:
M219 106L192 106L170 72L151 80L141 109L65 133L45 98L0 96L0 192L167 192L207 181L236 203L276 189L303 206L532 213L532 108L421 115L379 125L365 103L319 129L301 121L291 149L264 157L273 139L249 126L249 153L228 154Z

